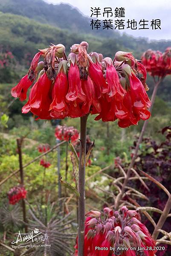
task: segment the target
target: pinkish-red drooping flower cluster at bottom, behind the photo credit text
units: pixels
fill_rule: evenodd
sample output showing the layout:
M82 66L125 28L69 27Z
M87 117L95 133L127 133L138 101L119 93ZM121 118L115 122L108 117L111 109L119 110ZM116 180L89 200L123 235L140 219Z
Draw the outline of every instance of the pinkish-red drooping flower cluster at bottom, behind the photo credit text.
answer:
M78 255L77 240L75 256ZM110 247L115 250L110 250ZM154 256L154 247L155 241L135 210L122 207L119 213L106 207L103 218L99 211L87 213L84 256Z

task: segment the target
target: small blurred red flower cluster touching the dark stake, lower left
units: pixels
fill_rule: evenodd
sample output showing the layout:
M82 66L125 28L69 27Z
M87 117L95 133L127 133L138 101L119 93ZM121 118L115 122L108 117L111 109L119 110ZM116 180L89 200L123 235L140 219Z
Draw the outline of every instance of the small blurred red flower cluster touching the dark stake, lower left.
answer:
M16 204L20 199L26 198L27 191L23 186L14 186L8 192L9 204Z

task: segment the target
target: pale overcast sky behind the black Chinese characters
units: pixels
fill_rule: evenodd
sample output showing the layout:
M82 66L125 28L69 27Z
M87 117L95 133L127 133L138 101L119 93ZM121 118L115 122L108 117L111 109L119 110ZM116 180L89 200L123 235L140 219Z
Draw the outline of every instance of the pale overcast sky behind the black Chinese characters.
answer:
M48 3L69 3L78 8L84 15L90 16L91 7L125 8L125 20L135 19L137 22L141 19L149 20L160 19L161 30L156 29L124 29L124 32L133 36L142 36L149 39L166 39L171 40L171 0L45 0ZM100 17L103 19L103 16ZM114 17L112 17L115 20ZM124 18L123 18L124 19ZM149 26L150 27L150 26ZM121 30L120 30L121 31ZM123 31L123 30L122 30Z

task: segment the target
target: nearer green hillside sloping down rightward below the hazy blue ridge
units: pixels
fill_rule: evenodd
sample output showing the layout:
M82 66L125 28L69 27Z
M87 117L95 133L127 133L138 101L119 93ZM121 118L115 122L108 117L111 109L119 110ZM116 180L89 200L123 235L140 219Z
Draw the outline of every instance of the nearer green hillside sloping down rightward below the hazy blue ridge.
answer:
M62 43L69 45L79 43L87 39L90 49L98 49L102 45L102 40L96 40L91 36L78 35L41 24L19 15L4 14L0 12L0 45L8 46L18 60L22 59L25 53L32 55L37 51L47 47L50 43Z

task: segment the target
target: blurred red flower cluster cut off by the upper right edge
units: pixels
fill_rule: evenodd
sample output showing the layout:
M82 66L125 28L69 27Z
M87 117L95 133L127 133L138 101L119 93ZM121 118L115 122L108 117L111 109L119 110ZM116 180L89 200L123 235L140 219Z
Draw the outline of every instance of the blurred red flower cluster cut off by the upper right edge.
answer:
M148 49L142 55L142 64L151 76L171 75L171 47L165 49L163 53Z

